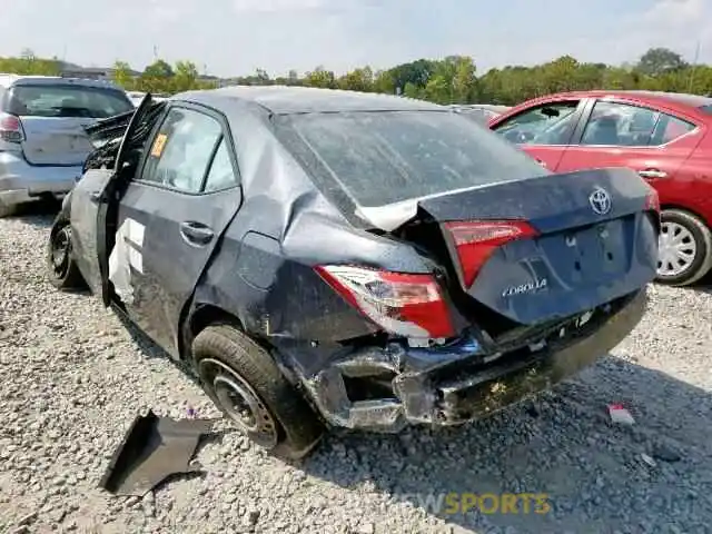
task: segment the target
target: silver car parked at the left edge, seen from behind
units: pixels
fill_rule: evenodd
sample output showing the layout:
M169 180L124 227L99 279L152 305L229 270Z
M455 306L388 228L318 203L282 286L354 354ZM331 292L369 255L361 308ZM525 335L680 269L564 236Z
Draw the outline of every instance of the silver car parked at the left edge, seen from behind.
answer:
M93 150L83 127L132 109L110 82L0 75L0 217L63 197Z

